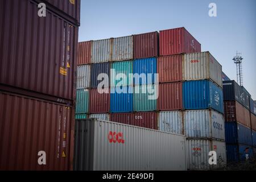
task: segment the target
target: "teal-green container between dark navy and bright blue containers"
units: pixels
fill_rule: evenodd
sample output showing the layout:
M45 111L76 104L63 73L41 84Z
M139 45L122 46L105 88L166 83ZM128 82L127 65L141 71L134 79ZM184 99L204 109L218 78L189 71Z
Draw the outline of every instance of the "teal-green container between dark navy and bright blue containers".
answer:
M111 64L112 73L110 74L111 86L127 86L133 85L133 76L129 75L133 73L133 61L122 61ZM124 74L125 78L122 75Z

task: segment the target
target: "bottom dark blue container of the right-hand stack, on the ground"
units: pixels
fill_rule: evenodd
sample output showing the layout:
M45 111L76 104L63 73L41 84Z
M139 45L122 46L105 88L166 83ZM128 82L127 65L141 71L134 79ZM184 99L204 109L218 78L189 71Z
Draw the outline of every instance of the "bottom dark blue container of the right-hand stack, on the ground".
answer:
M242 162L253 158L253 147L244 144L226 144L226 156L229 163Z

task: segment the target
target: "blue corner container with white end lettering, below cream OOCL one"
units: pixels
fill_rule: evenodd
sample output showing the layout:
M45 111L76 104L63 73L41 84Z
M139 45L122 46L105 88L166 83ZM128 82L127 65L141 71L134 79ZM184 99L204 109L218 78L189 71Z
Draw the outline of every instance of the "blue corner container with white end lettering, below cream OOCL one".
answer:
M183 82L184 109L209 109L224 113L223 92L220 87L208 80Z

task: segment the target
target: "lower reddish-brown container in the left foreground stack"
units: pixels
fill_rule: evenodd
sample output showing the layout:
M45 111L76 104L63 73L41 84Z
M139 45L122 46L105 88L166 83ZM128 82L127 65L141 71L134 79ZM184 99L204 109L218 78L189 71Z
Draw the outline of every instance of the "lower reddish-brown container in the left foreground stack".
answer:
M3 92L0 101L0 171L72 169L72 107Z

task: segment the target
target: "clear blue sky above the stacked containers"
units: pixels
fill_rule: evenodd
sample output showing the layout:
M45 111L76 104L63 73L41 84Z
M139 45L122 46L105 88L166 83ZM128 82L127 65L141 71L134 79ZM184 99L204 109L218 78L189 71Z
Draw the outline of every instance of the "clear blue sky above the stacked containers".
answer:
M216 3L217 17L208 15ZM256 100L255 0L81 0L79 42L185 27L236 80L236 51L243 85Z

